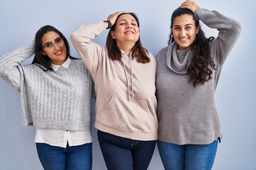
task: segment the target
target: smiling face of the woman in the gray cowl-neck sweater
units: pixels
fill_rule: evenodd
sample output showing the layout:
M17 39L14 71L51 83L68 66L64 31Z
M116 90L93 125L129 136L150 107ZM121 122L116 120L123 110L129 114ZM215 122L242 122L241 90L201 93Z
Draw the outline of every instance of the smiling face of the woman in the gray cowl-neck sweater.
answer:
M196 28L196 22L193 19L193 16L187 14L177 16L174 18L172 26L172 33L174 40L178 44L178 49L189 49L199 30L199 26Z

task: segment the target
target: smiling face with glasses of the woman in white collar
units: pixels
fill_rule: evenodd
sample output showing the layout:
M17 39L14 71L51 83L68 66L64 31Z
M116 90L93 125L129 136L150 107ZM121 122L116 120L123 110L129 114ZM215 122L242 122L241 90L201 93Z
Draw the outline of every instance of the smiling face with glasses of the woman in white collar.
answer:
M50 50L46 49L46 47L43 47L41 54L47 55L50 59L50 62L55 65L61 65L67 59L67 50L65 47L65 43L62 38L61 40L59 40L58 38L60 38L60 35L58 35L58 33L55 33L55 31L48 31L48 33L43 35L43 38L41 40L41 44L45 46L49 43L52 43L53 47L51 47Z

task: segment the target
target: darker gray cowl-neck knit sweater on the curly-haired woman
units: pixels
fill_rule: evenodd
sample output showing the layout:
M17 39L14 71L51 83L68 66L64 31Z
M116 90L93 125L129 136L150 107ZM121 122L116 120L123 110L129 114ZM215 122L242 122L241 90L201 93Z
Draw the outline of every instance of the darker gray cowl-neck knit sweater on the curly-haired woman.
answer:
M219 31L218 37L210 42L210 55L217 68L213 70L213 79L196 88L188 83L186 71L193 56L189 50L177 50L176 42L164 47L156 56L159 140L177 145L208 144L221 139L214 94L223 63L241 31L240 23L217 11L198 8L194 15L206 26ZM181 58L183 62L178 60Z

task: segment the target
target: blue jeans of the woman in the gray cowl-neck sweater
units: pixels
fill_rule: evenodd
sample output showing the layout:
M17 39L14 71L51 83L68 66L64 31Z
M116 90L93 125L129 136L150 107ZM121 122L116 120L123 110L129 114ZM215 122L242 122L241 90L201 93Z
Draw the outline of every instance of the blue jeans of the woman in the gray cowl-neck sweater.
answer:
M175 145L158 141L157 146L166 170L210 170L218 141L208 145Z

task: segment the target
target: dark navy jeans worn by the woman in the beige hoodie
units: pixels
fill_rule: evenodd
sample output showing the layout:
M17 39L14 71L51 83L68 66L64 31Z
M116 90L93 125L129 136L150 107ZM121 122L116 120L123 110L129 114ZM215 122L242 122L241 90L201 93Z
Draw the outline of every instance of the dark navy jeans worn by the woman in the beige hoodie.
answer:
M141 141L97 131L100 149L108 170L146 170L156 146L156 140Z

